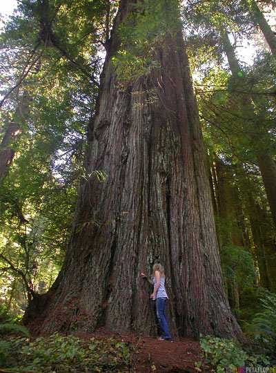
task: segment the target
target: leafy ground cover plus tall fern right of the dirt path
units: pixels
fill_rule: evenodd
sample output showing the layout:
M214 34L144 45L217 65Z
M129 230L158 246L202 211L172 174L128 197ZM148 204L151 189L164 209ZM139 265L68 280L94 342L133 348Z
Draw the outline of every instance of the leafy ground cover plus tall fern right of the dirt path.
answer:
M274 367L276 364L276 296L262 289L259 298L262 307L253 319L244 324L246 341L238 343L224 338L201 336L202 361L196 367L210 365L215 372L227 372L227 368Z

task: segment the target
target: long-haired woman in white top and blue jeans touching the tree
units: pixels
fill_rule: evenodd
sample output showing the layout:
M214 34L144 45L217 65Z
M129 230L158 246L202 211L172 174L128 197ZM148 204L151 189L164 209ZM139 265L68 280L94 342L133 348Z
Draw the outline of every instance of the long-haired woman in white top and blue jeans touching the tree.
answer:
M145 274L141 274L142 278L146 278L151 285L154 285L153 293L150 298L156 300L156 314L159 325L162 330L162 335L158 338L159 341L170 339L170 330L168 329L168 322L166 316L166 300L168 299L165 289L165 274L164 268L160 263L155 263L152 269L152 280Z

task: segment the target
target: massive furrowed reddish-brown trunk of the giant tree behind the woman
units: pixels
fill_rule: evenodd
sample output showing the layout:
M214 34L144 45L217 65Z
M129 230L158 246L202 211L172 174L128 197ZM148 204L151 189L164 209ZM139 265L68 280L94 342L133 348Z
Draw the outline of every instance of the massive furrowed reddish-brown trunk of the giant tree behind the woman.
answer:
M133 3L121 0L89 128L88 174L104 170L108 178L81 183L63 268L24 321L43 332L103 325L155 333L152 289L139 274L150 274L159 260L172 335L237 338L181 26L175 19L175 30L156 47L159 67L122 85L111 58L119 48L116 30ZM168 15L172 6L164 1Z

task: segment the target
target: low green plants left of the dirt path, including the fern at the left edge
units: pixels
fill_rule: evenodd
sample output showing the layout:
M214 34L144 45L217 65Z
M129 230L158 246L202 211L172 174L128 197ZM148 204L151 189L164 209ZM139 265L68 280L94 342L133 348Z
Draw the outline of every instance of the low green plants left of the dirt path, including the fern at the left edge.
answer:
M52 334L32 338L19 318L0 309L0 368L12 372L131 372L133 346L114 338Z

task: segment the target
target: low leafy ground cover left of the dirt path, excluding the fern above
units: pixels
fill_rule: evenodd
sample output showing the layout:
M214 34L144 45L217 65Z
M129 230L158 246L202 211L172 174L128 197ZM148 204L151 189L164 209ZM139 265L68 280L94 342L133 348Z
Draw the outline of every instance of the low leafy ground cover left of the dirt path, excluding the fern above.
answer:
M84 341L52 334L48 338L11 338L6 365L15 372L131 372L132 350L114 339ZM2 363L3 364L3 363Z

